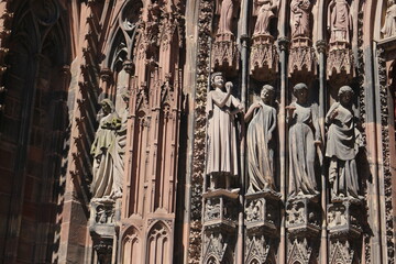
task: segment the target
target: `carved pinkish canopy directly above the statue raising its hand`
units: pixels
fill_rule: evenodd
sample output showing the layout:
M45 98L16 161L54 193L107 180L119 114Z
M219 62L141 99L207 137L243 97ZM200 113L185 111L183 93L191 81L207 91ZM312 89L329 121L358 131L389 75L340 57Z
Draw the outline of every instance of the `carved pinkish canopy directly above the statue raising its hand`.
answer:
M213 72L223 72L228 76L238 74L239 51L232 33L216 35L211 51L211 68Z

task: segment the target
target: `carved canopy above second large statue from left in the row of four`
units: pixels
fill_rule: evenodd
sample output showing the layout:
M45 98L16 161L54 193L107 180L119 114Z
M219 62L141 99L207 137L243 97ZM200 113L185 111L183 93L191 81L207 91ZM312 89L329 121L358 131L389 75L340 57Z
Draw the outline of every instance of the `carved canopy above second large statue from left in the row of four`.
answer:
M274 79L278 70L278 55L272 35L254 35L250 55L250 74L258 81Z

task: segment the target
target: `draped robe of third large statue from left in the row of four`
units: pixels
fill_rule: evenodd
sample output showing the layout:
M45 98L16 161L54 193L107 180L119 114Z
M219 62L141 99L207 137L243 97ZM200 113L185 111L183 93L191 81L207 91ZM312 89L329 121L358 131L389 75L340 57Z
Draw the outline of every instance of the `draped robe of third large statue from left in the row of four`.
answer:
M293 102L292 125L289 129L289 186L288 194L316 195L315 176L316 145L314 123L318 122L315 105L304 107ZM318 133L318 131L315 131Z

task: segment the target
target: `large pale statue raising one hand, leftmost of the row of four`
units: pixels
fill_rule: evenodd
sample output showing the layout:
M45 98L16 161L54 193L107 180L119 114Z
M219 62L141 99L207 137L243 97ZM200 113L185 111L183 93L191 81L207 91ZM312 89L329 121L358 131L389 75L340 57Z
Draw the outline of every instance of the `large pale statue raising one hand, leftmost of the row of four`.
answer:
M208 116L208 153L206 174L210 175L210 188L215 189L219 177L224 177L226 188L238 175L238 143L235 114L243 110L241 102L231 95L232 82L224 85L221 73L211 76L213 90L209 91L206 112Z

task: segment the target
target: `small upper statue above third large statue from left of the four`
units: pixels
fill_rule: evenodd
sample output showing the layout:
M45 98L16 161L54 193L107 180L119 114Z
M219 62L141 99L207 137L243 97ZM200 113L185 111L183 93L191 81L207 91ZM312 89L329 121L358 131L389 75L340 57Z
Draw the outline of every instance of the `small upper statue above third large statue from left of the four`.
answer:
M310 1L292 0L290 9L292 38L309 37Z

